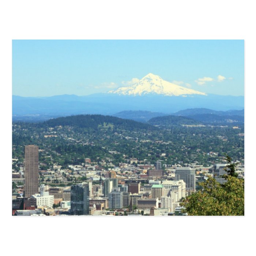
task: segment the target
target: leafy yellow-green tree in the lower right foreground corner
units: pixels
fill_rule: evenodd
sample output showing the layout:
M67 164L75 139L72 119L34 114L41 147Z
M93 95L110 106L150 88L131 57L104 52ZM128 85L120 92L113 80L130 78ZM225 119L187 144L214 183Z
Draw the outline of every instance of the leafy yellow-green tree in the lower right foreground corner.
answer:
M200 182L203 189L181 203L188 215L244 215L244 179L227 176L220 184L211 176Z

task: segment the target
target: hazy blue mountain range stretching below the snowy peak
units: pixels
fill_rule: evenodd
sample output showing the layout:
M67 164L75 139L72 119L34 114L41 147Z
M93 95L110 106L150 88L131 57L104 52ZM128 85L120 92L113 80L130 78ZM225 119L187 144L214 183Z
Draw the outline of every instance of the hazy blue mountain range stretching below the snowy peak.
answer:
M74 114L108 114L121 111L143 110L163 114L184 109L205 108L215 111L244 109L244 96L190 95L164 96L147 94L140 96L118 94L91 94L87 96L56 95L52 97L12 96L13 116L38 115L46 117Z

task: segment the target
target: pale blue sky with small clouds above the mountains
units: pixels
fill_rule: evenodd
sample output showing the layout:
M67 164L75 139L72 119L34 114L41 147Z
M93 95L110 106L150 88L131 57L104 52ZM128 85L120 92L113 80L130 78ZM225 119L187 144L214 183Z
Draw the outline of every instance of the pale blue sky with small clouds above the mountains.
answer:
M207 94L244 95L244 40L13 40L12 94L88 95L148 73Z

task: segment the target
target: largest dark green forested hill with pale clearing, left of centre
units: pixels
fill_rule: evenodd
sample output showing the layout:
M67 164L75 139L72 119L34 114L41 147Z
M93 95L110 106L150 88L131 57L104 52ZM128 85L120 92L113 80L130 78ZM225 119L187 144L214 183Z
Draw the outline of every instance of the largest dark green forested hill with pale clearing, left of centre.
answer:
M133 120L122 119L113 116L103 116L103 115L77 115L77 116L67 116L58 117L50 119L41 123L42 126L55 127L61 126L72 126L80 128L114 128L114 129L124 129L129 131L135 131L138 129L155 130L156 128L149 124L139 123Z

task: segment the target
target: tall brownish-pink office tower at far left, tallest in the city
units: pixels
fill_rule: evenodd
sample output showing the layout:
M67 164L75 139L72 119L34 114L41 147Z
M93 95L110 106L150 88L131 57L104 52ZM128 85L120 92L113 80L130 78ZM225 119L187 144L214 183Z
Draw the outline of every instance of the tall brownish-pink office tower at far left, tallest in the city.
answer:
M30 197L38 193L38 146L25 146L24 194Z

